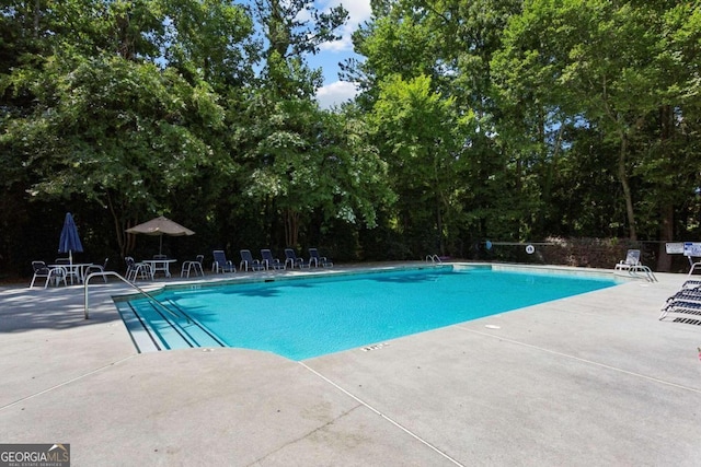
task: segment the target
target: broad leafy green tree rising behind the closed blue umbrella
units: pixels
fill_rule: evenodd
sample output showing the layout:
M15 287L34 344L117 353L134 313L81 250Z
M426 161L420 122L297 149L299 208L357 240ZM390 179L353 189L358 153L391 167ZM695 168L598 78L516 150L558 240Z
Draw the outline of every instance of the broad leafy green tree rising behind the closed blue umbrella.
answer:
M79 196L108 208L124 255L129 223L162 209L209 163L210 149L187 122L216 127L222 113L205 83L189 86L172 71L120 57L79 60L54 60L18 82L39 105L1 142L36 174L33 197Z

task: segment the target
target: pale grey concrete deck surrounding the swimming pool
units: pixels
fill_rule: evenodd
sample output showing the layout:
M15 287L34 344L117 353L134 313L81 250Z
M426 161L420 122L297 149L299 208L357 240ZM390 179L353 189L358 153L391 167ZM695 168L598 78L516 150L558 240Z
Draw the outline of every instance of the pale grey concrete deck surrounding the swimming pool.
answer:
M70 443L74 466L698 466L701 326L657 319L686 275L657 277L302 362L139 354L116 282L88 320L82 287L0 288L0 443Z

